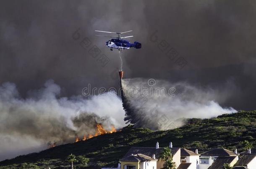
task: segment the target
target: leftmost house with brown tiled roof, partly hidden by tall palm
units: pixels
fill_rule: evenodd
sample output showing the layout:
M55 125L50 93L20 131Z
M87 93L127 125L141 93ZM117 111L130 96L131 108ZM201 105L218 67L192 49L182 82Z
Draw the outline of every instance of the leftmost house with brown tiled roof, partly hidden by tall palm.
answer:
M173 148L172 143L170 143L169 148L172 152L172 161L175 162L176 166L179 166L181 163L180 148ZM159 160L159 155L163 149L159 147L158 142L156 147L131 147L120 159L121 169L160 169L165 163L165 161Z

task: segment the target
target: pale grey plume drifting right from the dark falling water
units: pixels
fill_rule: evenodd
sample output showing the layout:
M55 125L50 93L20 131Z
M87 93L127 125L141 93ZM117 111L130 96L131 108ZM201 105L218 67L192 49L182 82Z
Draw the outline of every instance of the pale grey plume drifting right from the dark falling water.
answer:
M223 91L154 79L124 79L121 83L125 121L136 127L173 129L181 126L184 118L211 118L236 112L215 101L228 98Z

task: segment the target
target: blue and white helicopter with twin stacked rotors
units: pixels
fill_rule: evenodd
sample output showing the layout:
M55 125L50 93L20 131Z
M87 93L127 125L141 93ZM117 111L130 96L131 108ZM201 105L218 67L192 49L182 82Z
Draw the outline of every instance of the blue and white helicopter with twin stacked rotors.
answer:
M134 42L131 43L128 40L124 40L124 39L129 39L133 36L125 36L125 37L120 37L121 34L123 33L128 33L131 32L132 30L126 31L126 32L121 32L121 33L117 33L117 32L107 32L107 31L101 31L101 30L95 30L96 32L103 32L103 33L115 33L118 34L118 37L112 37L112 36L103 36L103 35L96 35L96 36L103 36L103 37L109 37L109 38L113 38L111 40L108 40L106 42L106 46L110 48L110 50L113 50L113 48L118 49L118 51L123 52L124 49L130 49L130 48L136 48L139 49L141 48L141 43L138 42Z

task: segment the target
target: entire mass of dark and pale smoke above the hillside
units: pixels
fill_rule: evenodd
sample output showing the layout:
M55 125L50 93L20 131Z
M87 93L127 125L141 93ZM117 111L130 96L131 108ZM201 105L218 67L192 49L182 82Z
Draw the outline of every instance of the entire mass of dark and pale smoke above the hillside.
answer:
M256 109L253 0L14 1L0 5L0 159L44 149L48 141L73 141L95 121L118 128L125 118L136 126L169 129L183 117ZM81 37L74 40L78 28ZM175 96L126 93L126 116L111 93L76 96L88 83L119 88L118 52L104 47L109 39L94 36L94 30L133 30L131 41L142 43L122 53L125 77L134 78L123 80L123 88L173 87ZM110 59L106 66L81 47L84 38ZM187 61L184 67L167 56L170 49ZM149 86L146 78L163 81Z

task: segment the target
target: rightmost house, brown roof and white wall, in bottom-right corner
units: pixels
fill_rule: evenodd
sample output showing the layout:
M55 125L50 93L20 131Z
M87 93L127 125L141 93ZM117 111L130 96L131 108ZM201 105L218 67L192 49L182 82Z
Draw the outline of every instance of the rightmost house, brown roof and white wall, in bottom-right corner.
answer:
M256 168L256 154L244 154L239 157L235 167L245 167L246 169Z

